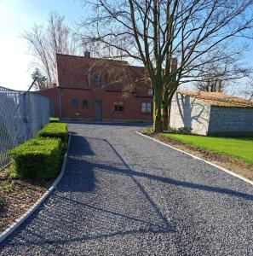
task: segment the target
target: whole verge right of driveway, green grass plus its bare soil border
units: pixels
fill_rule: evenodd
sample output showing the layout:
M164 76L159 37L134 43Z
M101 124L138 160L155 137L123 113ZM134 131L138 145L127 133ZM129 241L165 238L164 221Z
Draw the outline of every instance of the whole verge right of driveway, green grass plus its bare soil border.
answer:
M172 134L172 133L170 134L154 133L147 129L141 132L144 135L147 135L148 137L152 137L162 143L168 144L173 148L178 148L186 153L193 154L204 160L208 160L211 163L216 164L217 166L226 168L231 172L237 173L240 176L253 181L253 165L251 164L252 138L250 137L244 137L244 138L200 137L200 136L193 137L193 135L189 136L189 135ZM181 139L182 137L184 139ZM188 140L186 140L186 137L188 138ZM211 143L205 140L209 138L211 140ZM214 139L218 139L218 141ZM190 143L192 142L192 140L194 143ZM201 141L201 143L197 143L199 142L199 140ZM242 144L244 145L244 143L247 144L245 148L243 148L242 146ZM249 146L249 144L251 145L251 147ZM215 147L215 150L211 150L211 148L213 147ZM238 151L240 153L236 152L235 148L237 147L239 147ZM219 148L219 151L217 148ZM244 151L246 151L246 154L242 153ZM243 154L243 159L239 157L239 155L242 155L242 154ZM251 158L249 158L249 155L251 155Z

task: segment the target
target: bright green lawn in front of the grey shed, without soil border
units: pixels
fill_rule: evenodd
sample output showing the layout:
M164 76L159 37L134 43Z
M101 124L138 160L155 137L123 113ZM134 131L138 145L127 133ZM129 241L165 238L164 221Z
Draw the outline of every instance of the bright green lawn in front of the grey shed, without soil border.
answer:
M196 148L227 154L253 165L253 137L203 137L182 134L163 134Z

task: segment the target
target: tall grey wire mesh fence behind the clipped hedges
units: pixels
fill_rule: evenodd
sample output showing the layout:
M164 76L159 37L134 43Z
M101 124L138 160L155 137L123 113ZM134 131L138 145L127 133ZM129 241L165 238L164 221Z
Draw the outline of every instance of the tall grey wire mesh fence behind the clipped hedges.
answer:
M46 97L0 86L0 170L9 164L9 149L35 137L48 122Z

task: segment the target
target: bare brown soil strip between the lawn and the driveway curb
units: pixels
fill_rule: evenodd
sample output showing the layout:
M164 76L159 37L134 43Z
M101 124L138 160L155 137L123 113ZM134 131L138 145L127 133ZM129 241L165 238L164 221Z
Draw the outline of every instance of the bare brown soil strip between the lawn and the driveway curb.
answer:
M244 163L244 161L242 160L228 157L225 154L216 154L207 149L194 148L188 145L187 143L181 143L170 137L164 137L160 134L155 134L152 132L142 132L142 133L149 137L153 137L160 142L169 144L187 153L203 158L204 160L209 160L211 163L216 164L217 166L224 167L229 171L237 173L253 181L253 166L250 166L249 164Z

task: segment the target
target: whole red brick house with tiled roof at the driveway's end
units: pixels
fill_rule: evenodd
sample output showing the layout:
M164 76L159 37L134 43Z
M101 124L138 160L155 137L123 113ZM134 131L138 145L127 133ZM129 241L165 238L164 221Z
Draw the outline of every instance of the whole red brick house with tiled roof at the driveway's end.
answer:
M126 61L56 55L58 81L39 90L60 119L152 120L152 89L144 67ZM138 84L140 82L140 84Z

